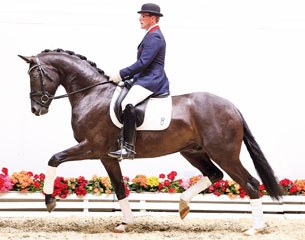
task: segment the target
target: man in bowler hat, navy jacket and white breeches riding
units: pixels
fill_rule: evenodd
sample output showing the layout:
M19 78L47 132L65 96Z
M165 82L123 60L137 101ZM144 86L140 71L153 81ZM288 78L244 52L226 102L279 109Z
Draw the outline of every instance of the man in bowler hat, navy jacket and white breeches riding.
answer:
M132 87L122 102L123 147L108 155L113 158L130 158L135 155L136 115L134 107L149 96L169 93L169 82L164 71L166 42L158 25L160 7L153 3L142 5L140 11L141 28L146 30L138 46L137 61L119 73L110 75L109 81L119 83L132 81Z

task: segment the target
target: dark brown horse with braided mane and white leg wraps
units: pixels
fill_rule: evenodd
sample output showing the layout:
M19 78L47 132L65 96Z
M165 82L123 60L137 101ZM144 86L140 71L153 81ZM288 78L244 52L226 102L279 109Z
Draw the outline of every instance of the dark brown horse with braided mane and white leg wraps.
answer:
M72 107L72 129L77 145L54 154L48 161L44 193L49 212L56 206L52 197L57 167L68 161L100 159L111 179L120 204L123 221L114 232L125 232L134 222L126 197L117 159L108 153L117 147L120 129L110 118L110 102L117 87L96 64L73 51L44 50L25 57L29 64L31 111L40 116L48 112L54 99L67 97ZM66 94L55 96L58 86ZM136 158L154 158L179 152L203 178L181 194L179 213L184 219L191 199L223 178L225 171L240 184L250 198L253 226L245 232L254 235L264 229L259 181L241 164L242 143L266 190L273 200L280 200L282 190L273 169L252 135L237 107L222 97L208 92L194 92L172 98L172 118L165 130L138 131ZM215 164L216 163L216 164ZM218 165L218 166L216 166Z

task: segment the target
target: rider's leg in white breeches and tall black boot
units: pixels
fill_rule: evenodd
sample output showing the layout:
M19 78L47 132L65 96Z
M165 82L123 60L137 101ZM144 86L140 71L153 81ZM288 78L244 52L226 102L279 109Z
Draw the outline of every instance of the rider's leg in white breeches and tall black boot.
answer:
M136 141L136 113L134 106L152 95L153 92L139 85L134 85L129 90L127 96L122 102L123 109L123 146L115 152L108 155L113 158L130 158L135 155Z

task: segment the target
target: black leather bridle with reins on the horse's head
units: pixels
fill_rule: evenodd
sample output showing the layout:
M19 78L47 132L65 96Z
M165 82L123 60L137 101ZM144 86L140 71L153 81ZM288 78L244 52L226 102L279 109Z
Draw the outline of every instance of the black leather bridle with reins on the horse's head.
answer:
M50 94L46 88L45 88L45 82L44 82L44 78L45 77L49 77L48 73L46 72L46 70L44 69L43 67L43 64L40 63L40 60L38 58L38 56L35 57L36 59L36 64L34 66L32 66L29 70L28 70L28 74L30 75L31 71L33 71L33 69L35 68L38 68L39 69L39 80L40 80L40 91L32 91L30 93L30 98L32 101L34 101L35 103L39 104L40 106L42 107L45 107L45 108L48 108L49 107L49 104L48 102L50 100L53 100L53 99L60 99L60 98L65 98L65 97L69 97L70 95L73 95L73 94L76 94L76 93L80 93L80 92L83 92L83 91L86 91L90 88L93 88L93 87L96 87L96 86L99 86L99 85L103 85L103 84L106 84L106 83L112 83L110 81L106 81L106 82L99 82L99 83L96 83L96 84L93 84L93 85L90 85L90 86L87 86L87 87L84 87L84 88L81 88L81 89L78 89L76 91L73 91L73 92L70 92L70 93L67 93L67 94L63 94L63 95L59 95L59 96L54 96L52 94ZM40 101L36 100L34 97L36 96L39 96L40 97Z

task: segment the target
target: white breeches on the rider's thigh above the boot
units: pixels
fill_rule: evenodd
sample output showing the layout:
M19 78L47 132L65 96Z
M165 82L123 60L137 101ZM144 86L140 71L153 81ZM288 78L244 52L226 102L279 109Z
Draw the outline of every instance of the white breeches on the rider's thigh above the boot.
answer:
M152 94L152 91L140 85L133 85L124 100L122 101L122 110L124 111L125 107L128 104L136 106L138 103L142 102L144 99L148 98Z

